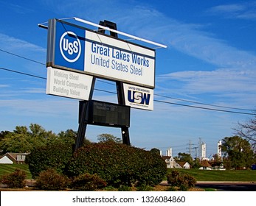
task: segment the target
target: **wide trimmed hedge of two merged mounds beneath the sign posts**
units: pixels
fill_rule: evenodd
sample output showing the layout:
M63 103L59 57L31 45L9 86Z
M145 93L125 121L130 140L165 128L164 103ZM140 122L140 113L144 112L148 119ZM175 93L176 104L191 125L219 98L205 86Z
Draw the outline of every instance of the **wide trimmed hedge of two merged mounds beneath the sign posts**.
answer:
M32 177L54 168L75 178L97 174L108 186L157 185L166 174L166 164L159 154L122 143L91 143L73 154L72 146L52 144L33 150L27 158Z

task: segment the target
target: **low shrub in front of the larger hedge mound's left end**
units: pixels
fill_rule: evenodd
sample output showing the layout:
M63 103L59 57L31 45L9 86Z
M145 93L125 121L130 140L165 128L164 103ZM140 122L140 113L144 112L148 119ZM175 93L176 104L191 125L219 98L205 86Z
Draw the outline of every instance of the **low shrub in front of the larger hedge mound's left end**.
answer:
M72 180L70 188L76 191L95 191L106 186L106 182L97 174L80 174Z

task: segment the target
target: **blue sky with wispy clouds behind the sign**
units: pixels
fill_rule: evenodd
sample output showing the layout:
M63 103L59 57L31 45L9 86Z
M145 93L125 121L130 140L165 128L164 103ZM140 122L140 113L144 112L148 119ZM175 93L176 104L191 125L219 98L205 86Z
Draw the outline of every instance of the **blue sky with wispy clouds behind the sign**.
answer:
M253 118L239 113L255 110L256 1L0 3L0 131L31 123L56 133L78 128L78 100L46 95L47 31L38 24L50 18L113 21L122 32L167 45L156 49L154 99L174 104L154 102L153 111L131 110L134 146L164 153L172 147L176 155L188 152L189 143L198 146L201 138L210 156L217 153L219 140L234 135L238 121ZM99 91L114 92L114 82L99 80L93 99L117 102L113 93ZM89 125L86 138L97 141L102 133L121 137L120 129Z

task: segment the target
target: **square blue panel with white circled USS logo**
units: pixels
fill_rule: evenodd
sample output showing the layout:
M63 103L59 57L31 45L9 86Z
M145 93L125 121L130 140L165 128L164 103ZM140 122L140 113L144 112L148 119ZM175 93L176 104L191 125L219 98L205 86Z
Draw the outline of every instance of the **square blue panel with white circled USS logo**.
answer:
M85 30L59 21L55 24L54 64L83 71Z

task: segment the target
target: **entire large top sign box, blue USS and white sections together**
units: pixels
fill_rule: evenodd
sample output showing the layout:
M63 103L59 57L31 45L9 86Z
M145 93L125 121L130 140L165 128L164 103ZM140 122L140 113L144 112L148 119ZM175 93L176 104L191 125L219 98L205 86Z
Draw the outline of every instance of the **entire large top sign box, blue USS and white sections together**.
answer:
M56 19L48 30L48 66L155 87L154 49Z

